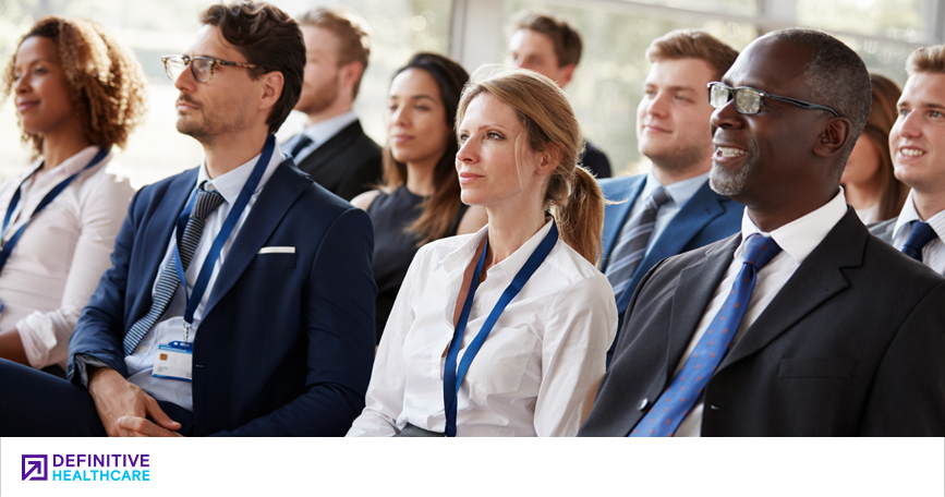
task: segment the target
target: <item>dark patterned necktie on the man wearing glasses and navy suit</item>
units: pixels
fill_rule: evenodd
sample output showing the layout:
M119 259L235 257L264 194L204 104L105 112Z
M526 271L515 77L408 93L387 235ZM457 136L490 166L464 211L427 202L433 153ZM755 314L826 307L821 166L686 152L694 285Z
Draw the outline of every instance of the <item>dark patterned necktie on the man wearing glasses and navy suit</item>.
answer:
M181 237L181 244L178 251L181 254L181 264L184 266L184 271L191 265L191 259L194 257L194 252L197 250L197 244L201 242L201 235L204 233L204 225L207 217L223 203L223 196L216 190L206 191L202 184L196 193L197 197L194 201L194 209L191 211L191 217L187 219L187 226L184 227L184 234ZM124 336L124 354L131 355L134 348L141 342L142 338L147 335L148 330L154 326L157 319L165 313L170 304L174 292L178 290L178 284L181 283L178 278L177 265L174 257L169 257L165 270L158 278L155 287L154 300L150 311L132 325L131 329ZM186 284L186 283L184 283Z

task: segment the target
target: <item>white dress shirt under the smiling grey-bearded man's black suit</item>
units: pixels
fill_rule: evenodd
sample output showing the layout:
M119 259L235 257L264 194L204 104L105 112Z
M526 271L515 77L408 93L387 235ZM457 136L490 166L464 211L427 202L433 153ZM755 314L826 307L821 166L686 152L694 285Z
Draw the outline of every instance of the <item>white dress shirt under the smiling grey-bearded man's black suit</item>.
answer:
M741 324L738 326L738 332L731 341L732 347L735 342L744 335L746 330L751 327L752 323L758 319L758 316L767 308L767 305L772 300L774 300L775 295L780 292L780 289L784 288L785 283L788 282L798 267L803 264L807 256L821 244L827 233L834 228L834 226L836 226L846 213L847 203L844 198L843 189L840 189L840 193L838 193L837 196L826 203L823 207L809 213L801 218L795 219L771 233L765 233L754 226L754 222L748 215L748 209L746 209L741 218L741 244L736 248L731 265L729 265L725 278L723 278L722 282L715 289L715 294L710 301L705 314L702 315L702 320L699 322L699 326L695 328L695 334L692 336L692 340L690 340L689 347L686 349L686 353L682 354L682 360L679 362L679 365L676 366L673 376L676 377L676 375L679 374L679 371L682 369L689 355L692 354L696 343L699 343L699 339L702 338L702 335L706 329L708 329L710 323L712 323L712 319L716 314L718 314L722 304L724 304L725 300L728 298L728 294L735 284L735 278L741 270L746 250L744 241L749 235L760 233L764 237L771 237L774 239L775 243L782 247L782 252L771 259L765 267L758 271L754 290L751 293L751 300L749 301L748 310L744 312L744 317L742 317ZM710 379L710 381L712 381L712 379ZM699 401L692 410L689 411L686 419L682 420L679 428L676 429L675 436L700 436L702 431L702 409L704 407L703 397L704 396L699 397Z

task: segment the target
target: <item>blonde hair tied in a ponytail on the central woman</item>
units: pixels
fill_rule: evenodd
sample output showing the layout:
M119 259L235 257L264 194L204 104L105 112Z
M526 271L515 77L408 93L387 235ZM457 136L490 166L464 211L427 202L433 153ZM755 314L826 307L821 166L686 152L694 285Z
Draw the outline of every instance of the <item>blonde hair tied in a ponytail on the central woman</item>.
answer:
M584 148L581 125L565 92L552 80L517 68L477 69L463 90L457 122L476 96L488 93L516 110L534 151L557 150L560 160L545 189L545 208L561 240L596 265L604 230L604 194L594 175L578 165Z

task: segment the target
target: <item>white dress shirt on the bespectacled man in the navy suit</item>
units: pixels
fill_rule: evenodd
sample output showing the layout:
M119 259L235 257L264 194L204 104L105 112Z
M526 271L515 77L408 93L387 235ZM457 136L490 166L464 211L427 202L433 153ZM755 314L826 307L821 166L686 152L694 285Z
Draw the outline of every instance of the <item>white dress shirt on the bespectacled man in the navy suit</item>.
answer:
M213 180L210 180L209 175L207 174L206 161L201 165L201 170L197 173L197 182L194 184L194 187L206 181L204 189L215 189L220 192L220 194L223 196L223 203L220 204L220 206L217 207L217 209L210 213L210 215L207 217L206 225L204 226L204 232L201 235L201 242L199 244L197 244L197 248L194 251L194 258L191 260L191 265L187 267L187 270L184 274L184 277L187 281L189 295L193 292L194 282L196 282L197 275L199 274L201 268L204 265L204 260L206 260L207 254L210 252L210 246L214 244L214 239L216 239L217 234L220 232L220 229L223 226L223 221L227 219L227 216L230 214L230 209L233 207L233 204L240 196L240 192L243 190L243 185L246 183L250 174L253 173L253 168L256 166L256 160L258 159L259 156L257 155L256 157L250 159L250 161L247 161L246 163ZM214 290L214 283L217 281L217 276L220 272L220 267L222 267L223 262L227 258L227 254L233 246L233 241L237 240L237 235L240 234L240 228L243 227L243 222L246 220L246 217L250 215L253 205L256 203L256 198L258 198L259 192L263 191L266 182L269 181L269 178L276 171L276 168L282 162L282 159L283 157L282 153L279 149L279 145L276 144L276 148L275 150L272 150L272 155L268 158L269 162L266 166L266 171L263 173L263 178L259 180L259 184L256 186L253 196L250 197L250 203L246 204L246 208L243 210L242 216L240 216L240 219L237 221L235 227L233 227L233 232L230 233L230 237L227 239L227 242L223 244L223 247L220 251L220 257L217 258L216 264L214 265L214 272L210 275L210 279L207 282L207 290L204 292L204 295L201 299L201 303L197 305L196 311L194 311L194 323L193 327L190 330L187 341L193 342L194 337L196 337L197 332L199 331L204 307L207 305L207 301L209 300L210 293ZM170 259L170 257L173 256L173 247L175 245L177 229L174 229L173 234L171 234L170 242L168 243L168 248L165 252L165 257L160 264L160 269L158 269L157 278L155 278L154 286L152 287L152 293L154 293L155 288L157 288L157 282L163 274L168 260ZM171 303L168 305L165 314L160 316L158 322L152 327L150 330L148 330L144 338L142 338L134 352L132 352L131 355L124 357L124 363L128 366L129 381L140 386L144 391L146 391L148 395L150 395L157 400L167 400L186 409L187 411L193 411L193 384L191 384L191 381L152 376L155 352L157 351L158 346L166 344L174 340L183 341L184 339L183 314L184 308L186 307L186 302L184 301L182 290L183 287L179 286L178 291L177 293L174 293L174 296L171 300Z

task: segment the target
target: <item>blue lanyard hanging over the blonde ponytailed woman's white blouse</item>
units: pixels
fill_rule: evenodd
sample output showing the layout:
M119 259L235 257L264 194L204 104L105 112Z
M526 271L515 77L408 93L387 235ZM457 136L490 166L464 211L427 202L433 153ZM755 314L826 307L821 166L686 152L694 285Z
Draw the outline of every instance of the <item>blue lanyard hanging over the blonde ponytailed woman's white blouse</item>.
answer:
M459 372L457 372L456 360L459 355L460 343L462 342L462 336L465 331L467 323L469 322L470 308L472 308L472 301L475 296L476 288L478 287L480 275L482 275L483 264L486 259L486 251L489 246L489 238L488 234L486 234L486 240L483 244L483 253L480 256L478 263L476 263L476 270L473 274L472 281L469 286L469 293L465 296L465 303L463 303L462 312L459 315L459 322L457 322L456 330L452 334L452 341L449 343L449 352L446 354L446 366L443 373L443 404L446 414L446 436L456 436L457 393L459 393L459 387L462 385L462 380L469 371L470 364L472 364L473 359L475 359L480 349L483 347L486 338L488 338L489 332L493 330L493 326L496 325L502 311L505 311L506 306L509 305L509 302L519 294L522 287L525 286L525 282L529 281L529 278L531 278L535 272L535 269L545 262L545 258L552 252L552 248L555 247L555 243L557 242L558 227L554 221L552 221L552 229L548 231L548 234L545 235L542 243L540 243L538 247L535 248L535 252L529 256L529 259L525 260L525 265L522 266L512 279L512 282L509 283L502 292L496 306L489 313L485 323L483 323L480 332L467 348L462 361L459 364Z

